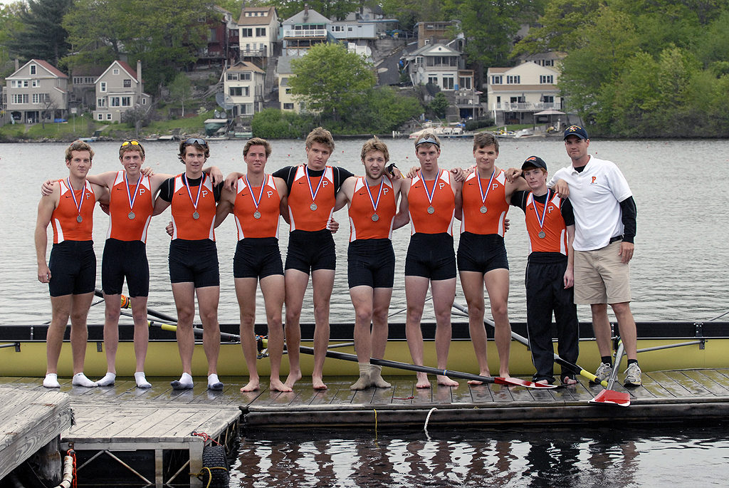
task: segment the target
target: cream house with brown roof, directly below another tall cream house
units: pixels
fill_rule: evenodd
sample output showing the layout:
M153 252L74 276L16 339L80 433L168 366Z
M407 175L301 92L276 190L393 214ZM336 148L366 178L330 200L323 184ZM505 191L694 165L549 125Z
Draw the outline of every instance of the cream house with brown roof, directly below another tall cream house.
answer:
M263 109L265 71L248 61L238 61L223 71L226 104L233 105L233 117L252 116Z

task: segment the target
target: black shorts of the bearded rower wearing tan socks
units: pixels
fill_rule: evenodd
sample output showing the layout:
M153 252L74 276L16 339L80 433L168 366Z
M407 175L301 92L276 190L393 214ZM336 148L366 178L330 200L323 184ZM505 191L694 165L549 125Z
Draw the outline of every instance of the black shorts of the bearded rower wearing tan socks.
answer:
M391 288L395 280L395 252L390 239L356 239L347 249L349 287Z

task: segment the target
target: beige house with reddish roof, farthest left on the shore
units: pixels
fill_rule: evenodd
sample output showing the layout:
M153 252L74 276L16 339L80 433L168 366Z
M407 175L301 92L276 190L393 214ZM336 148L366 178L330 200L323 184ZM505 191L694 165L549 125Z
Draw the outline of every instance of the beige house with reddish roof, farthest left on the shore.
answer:
M68 88L66 74L47 61L31 59L5 78L5 113L15 122L28 124L39 123L42 117L51 122L66 119Z

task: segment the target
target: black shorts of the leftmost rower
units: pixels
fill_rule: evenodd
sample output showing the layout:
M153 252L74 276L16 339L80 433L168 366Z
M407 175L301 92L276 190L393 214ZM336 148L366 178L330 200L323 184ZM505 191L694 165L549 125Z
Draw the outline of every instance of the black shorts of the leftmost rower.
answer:
M48 290L52 297L93 292L96 287L93 241L63 241L53 244L48 268Z

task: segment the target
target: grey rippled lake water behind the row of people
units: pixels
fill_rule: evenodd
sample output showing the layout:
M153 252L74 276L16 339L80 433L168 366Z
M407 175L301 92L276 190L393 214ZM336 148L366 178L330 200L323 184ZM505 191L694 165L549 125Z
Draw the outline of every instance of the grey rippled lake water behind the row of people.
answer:
M337 142L330 163L362 174L359 150L362 140ZM386 139L391 160L401 169L416 163L413 144L407 139ZM243 171L243 141L211 142L208 163L227 174ZM1 232L7 250L5 265L0 268L0 309L6 324L31 324L50 319L47 285L36 279L34 224L39 200L39 186L48 177L65 177L63 161L66 144L0 144L0 167L6 174L0 192L4 218ZM93 144L96 152L93 172L120 169L119 144ZM183 166L176 158L176 144L145 144L147 164L161 173L177 174ZM725 252L727 209L729 208L729 141L593 141L590 152L613 160L628 179L638 207L636 253L631 265L632 307L637 320L706 320L729 309L726 299ZM552 139L502 140L497 164L502 168L521 166L529 155L547 161L550 171L569 163L564 144ZM472 164L469 139L443 142L440 164L444 168ZM273 142L268 169L305 162L304 142ZM509 311L512 320L526 320L523 273L526 266L527 239L523 212L512 208L512 228L506 236L511 268ZM332 322L351 322L354 312L346 282L348 228L346 209L335 214L342 228L335 234L338 271L332 294ZM98 209L94 215L94 242L98 257L97 282L101 284L101 252L104 249L108 217ZM152 219L147 241L151 283L149 306L167 314L175 313L169 284L167 254L169 237L164 231L169 211ZM456 230L460 223L456 223ZM288 228L281 220L281 249L286 253ZM50 235L50 231L49 231ZM217 246L221 270L219 317L221 322L238 321L238 303L233 288L233 254L235 225L229 218L217 229ZM410 229L394 232L397 259L396 279L391 311L405 307L403 269ZM49 241L52 241L49 239ZM456 233L456 246L458 235ZM50 251L49 251L50 255ZM464 303L459 291L456 298ZM258 317L262 315L259 296ZM89 322L103 322L103 306L93 307ZM431 314L429 316L429 314ZM303 321L312 322L311 291L305 297ZM432 317L426 309L425 317ZM589 319L587 307L580 308L580 319ZM404 314L392 318L404 322Z

